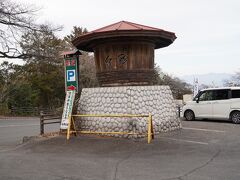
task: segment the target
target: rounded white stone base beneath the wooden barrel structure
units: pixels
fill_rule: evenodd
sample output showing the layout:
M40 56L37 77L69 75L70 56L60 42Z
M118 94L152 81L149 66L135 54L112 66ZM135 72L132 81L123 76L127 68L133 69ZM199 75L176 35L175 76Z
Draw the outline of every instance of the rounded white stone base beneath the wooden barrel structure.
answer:
M151 113L155 133L167 132L181 127L172 92L168 86L85 88L80 97L78 113ZM77 120L77 126L81 130L124 131L144 134L147 132L147 118L85 117Z

